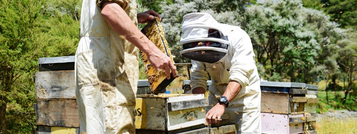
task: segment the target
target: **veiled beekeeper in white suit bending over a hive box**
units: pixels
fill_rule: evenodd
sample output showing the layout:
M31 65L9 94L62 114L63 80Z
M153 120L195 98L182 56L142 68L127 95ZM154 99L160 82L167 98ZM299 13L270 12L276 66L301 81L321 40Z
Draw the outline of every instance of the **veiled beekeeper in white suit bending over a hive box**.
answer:
M207 13L183 16L182 32L180 54L192 62L192 93L205 93L211 76L207 123L234 119L238 134L261 133L260 79L248 34Z

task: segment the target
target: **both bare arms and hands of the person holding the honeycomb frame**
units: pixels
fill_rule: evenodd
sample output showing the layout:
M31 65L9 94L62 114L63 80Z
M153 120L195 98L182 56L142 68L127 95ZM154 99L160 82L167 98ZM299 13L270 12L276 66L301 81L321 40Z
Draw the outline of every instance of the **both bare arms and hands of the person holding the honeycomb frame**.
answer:
M99 0L101 1L101 0ZM105 1L105 0L102 0ZM172 64L171 59L167 57L161 50L157 49L154 43L152 43L140 30L134 25L130 17L123 9L129 8L126 0L112 0L115 2L104 2L102 5L100 2L98 7L102 7L101 14L108 22L110 27L118 34L124 36L126 40L134 44L144 53L156 70L165 70L166 77L170 79L170 69L172 75L176 77L176 67ZM156 13L156 12L155 12ZM145 21L145 19L155 19L152 15L154 11L147 12L146 14L139 15L138 20Z

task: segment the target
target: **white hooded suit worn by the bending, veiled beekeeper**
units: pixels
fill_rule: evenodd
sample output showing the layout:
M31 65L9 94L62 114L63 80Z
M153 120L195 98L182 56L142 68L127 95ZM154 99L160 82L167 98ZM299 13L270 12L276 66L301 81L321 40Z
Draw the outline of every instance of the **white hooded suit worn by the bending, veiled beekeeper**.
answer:
M196 30L184 29L189 25L197 26ZM203 87L207 90L208 74L212 85L209 86L208 112L212 105L217 104L216 96L222 96L230 81L236 81L242 89L222 115L222 119L234 119L239 124L238 134L260 134L260 78L255 65L255 54L248 34L240 27L218 23L210 14L191 13L183 16L181 43L192 37L207 37L206 32L200 32L198 27L206 27L221 31L228 37L228 53L217 63L205 63L191 60L191 89ZM202 34L202 35L201 35ZM203 54L203 53L202 53Z

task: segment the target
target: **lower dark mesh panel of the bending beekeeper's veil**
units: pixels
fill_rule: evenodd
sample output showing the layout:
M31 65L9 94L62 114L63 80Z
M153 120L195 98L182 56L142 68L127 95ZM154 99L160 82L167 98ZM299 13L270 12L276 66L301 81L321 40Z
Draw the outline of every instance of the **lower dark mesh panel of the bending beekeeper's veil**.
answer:
M183 57L191 60L206 62L206 63L216 63L221 60L226 53L217 52L213 50L195 51L182 54Z

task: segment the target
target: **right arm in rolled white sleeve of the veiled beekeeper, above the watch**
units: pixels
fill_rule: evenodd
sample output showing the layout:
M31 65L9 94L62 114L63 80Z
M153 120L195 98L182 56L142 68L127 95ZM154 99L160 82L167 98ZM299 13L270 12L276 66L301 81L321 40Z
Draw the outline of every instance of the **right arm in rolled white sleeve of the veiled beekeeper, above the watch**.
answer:
M252 42L248 34L240 28L232 33L235 38L232 41L233 58L231 60L229 84L223 96L231 102L240 92L241 88L249 85L249 78L256 69L255 54Z

